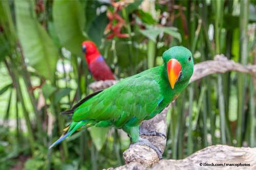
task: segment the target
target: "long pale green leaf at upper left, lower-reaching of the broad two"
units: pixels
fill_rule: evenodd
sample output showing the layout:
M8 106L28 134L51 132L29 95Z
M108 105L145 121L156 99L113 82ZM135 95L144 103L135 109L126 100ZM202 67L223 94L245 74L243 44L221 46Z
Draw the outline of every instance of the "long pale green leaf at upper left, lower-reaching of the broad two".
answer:
M41 76L54 81L58 50L37 21L33 1L15 1L18 37L29 64Z

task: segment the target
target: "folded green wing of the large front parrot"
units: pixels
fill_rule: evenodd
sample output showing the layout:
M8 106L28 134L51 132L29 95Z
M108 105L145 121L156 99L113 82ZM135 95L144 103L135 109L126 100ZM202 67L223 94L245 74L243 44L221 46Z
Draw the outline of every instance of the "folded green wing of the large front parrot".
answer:
M80 104L74 111L73 120L108 120L116 127L129 121L139 124L163 100L159 70L150 70L126 78Z

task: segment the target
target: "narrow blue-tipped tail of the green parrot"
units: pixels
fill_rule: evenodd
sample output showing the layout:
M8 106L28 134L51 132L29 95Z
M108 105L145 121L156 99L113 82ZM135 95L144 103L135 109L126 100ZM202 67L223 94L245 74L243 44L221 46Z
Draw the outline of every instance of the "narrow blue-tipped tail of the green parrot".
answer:
M63 129L64 133L62 136L59 137L54 143L52 143L49 149L55 147L55 145L59 144L62 140L66 139L67 137L71 136L76 131L80 130L81 128L89 128L95 124L95 121L92 119L82 120L80 122L72 122L68 127Z

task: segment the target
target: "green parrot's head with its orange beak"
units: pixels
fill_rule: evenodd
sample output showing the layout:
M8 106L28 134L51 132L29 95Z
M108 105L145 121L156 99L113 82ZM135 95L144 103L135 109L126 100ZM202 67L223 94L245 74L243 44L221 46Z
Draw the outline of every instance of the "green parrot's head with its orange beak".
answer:
M189 81L194 71L191 52L183 46L174 46L163 53L170 87L174 89L177 82Z

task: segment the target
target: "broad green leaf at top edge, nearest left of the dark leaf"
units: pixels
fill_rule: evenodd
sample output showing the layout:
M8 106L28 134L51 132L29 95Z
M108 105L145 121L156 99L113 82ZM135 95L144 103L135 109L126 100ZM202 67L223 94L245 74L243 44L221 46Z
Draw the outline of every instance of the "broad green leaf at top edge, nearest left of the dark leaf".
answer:
M82 55L81 44L86 39L82 30L84 11L79 1L54 1L53 19L61 44L75 55Z

